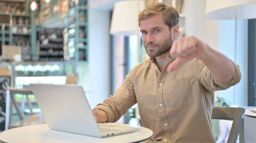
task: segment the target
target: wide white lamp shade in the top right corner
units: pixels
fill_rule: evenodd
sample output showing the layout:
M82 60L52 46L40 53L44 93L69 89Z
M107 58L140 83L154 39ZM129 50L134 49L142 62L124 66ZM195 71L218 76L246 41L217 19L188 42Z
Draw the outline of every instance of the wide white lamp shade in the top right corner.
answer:
M237 12L236 12L237 8ZM205 16L211 19L256 18L256 0L207 0Z

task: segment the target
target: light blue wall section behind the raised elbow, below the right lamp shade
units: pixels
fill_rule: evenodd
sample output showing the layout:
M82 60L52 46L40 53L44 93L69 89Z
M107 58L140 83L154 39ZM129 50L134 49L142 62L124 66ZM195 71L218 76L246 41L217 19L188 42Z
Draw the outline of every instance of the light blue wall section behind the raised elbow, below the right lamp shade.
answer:
M248 105L248 20L238 20L236 64L242 79L235 86L235 105ZM235 20L219 20L219 51L234 61ZM219 96L233 103L234 87L219 91Z

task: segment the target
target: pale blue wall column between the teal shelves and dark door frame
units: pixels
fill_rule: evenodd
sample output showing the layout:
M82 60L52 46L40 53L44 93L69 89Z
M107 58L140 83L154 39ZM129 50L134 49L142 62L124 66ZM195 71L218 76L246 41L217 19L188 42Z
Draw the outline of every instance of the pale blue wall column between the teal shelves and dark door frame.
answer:
M88 101L91 108L110 96L110 12L89 10L89 83Z

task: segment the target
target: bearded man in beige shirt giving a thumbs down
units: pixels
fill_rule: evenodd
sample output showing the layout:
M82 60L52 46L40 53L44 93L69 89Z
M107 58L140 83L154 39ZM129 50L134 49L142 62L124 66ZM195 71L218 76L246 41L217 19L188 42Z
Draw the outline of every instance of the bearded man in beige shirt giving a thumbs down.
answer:
M146 143L215 143L211 130L214 91L241 79L239 67L196 37L177 40L179 14L154 3L138 16L151 57L126 76L113 96L92 111L98 123L117 121L138 103Z

